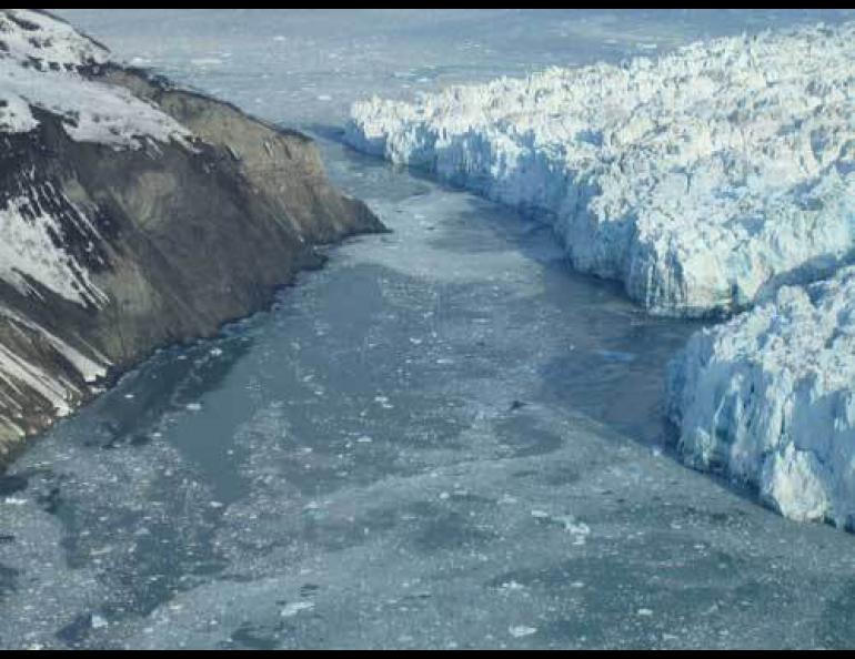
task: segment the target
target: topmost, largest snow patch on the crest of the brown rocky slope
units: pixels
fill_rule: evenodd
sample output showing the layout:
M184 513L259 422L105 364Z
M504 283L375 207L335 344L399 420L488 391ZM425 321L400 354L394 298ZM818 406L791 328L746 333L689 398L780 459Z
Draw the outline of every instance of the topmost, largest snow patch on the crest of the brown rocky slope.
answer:
M117 149L139 148L145 140L188 143L190 132L154 105L81 73L107 60L105 49L58 19L0 12L0 132L34 130L34 107L61 116L79 142Z

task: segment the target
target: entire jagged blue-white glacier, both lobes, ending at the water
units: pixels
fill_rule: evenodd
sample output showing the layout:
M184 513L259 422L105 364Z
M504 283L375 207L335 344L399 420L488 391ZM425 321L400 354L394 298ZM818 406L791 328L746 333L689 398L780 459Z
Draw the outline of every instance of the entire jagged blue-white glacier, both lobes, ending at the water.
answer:
M853 61L855 23L766 31L374 98L346 140L547 219L576 268L652 313L745 312L670 368L681 450L786 517L852 527Z

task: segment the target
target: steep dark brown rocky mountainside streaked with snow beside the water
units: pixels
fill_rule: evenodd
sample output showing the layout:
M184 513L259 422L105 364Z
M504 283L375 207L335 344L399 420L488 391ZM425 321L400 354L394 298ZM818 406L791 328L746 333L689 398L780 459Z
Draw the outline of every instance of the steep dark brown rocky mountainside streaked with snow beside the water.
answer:
M0 11L0 460L154 347L382 225L308 138Z

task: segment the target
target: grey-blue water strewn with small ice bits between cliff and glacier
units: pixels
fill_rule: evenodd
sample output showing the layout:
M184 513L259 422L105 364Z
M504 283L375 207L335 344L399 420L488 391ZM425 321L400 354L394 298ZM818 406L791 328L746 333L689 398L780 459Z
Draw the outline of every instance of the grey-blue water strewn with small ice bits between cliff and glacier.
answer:
M423 71L804 17L67 16L314 131L393 233L330 249L270 312L161 351L31 445L0 478L0 646L855 643L852 536L673 455L663 368L697 325L574 274L536 222L334 139L350 100Z

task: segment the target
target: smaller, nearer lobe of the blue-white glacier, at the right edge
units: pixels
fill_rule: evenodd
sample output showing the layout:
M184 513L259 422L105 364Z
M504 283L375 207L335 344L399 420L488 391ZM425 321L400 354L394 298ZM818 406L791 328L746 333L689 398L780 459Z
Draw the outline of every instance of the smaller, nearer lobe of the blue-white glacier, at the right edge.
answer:
M852 528L855 267L696 333L671 364L668 408L690 464L786 517Z

